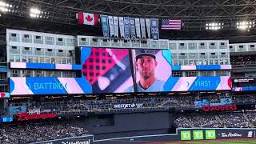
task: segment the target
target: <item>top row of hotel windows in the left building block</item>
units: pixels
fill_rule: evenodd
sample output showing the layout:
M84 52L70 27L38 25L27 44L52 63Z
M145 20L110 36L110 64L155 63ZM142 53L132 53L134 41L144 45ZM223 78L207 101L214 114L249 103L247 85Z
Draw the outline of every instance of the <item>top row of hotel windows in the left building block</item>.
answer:
M28 42L38 43L46 45L58 45L58 46L75 46L74 38L54 38L49 36L40 36L32 34L21 34L22 40L20 41L20 34L10 33L10 42ZM55 43L56 42L56 43Z

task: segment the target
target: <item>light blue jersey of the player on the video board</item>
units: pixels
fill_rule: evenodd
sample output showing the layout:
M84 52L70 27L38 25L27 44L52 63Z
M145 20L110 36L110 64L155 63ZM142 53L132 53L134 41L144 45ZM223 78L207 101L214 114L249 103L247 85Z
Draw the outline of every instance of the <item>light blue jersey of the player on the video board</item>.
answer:
M154 83L147 88L146 90L142 88L142 86L139 84L139 82L137 83L137 90L138 92L157 92L157 91L163 91L163 86L166 82L163 82L161 80L155 80ZM127 88L125 90L126 93L129 92L134 92L134 86L130 86L129 88Z

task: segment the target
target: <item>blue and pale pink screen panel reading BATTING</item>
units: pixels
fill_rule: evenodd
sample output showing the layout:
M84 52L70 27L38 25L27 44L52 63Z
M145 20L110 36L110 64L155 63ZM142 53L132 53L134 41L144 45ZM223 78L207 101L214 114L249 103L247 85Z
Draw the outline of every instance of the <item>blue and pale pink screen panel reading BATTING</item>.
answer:
M92 87L84 78L10 78L11 95L91 93Z

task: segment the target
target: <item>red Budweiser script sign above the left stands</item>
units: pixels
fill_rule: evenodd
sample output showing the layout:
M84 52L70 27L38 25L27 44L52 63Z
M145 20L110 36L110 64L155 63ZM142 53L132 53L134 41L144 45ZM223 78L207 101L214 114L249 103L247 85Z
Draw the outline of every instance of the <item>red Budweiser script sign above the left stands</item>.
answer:
M55 118L56 114L49 113L49 114L28 114L28 113L20 113L18 114L18 121L26 121L30 119L43 119L43 118Z

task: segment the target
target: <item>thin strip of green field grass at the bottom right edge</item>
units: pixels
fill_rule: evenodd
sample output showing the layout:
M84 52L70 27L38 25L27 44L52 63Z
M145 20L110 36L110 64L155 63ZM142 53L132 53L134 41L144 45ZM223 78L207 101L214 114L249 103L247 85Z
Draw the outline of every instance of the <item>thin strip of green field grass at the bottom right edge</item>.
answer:
M210 142L182 142L182 143L190 143L190 144L256 144L256 141L210 141Z

